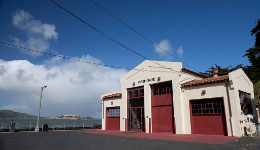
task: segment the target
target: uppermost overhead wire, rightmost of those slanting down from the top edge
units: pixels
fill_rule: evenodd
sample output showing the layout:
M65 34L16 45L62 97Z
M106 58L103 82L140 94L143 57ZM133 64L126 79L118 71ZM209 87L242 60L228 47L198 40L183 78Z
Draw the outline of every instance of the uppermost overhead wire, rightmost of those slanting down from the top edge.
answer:
M106 9L102 8L100 5L96 4L95 2L93 2L92 0L89 0L92 3L94 3L96 6L100 7L101 9L103 9L105 12L107 12L108 14L110 14L111 16L113 16L114 18L116 18L118 21L120 21L121 23L123 23L124 25L126 25L127 27L131 28L133 31L135 31L136 33L138 33L139 35L141 35L142 37L144 37L144 39L146 39L147 41L149 41L150 43L152 43L153 45L155 45L156 47L158 47L159 49L165 51L166 53L168 53L169 55L171 55L172 57L174 57L175 59L179 60L180 62L182 62L183 64L185 64L186 66L190 67L193 70L196 70L194 68L192 68L191 66L189 66L188 64L186 64L185 62L181 61L180 59L178 59L177 57L173 56L171 53L167 52L166 50L164 50L163 48L159 47L156 43L152 42L151 40L149 40L146 36L142 35L141 33L139 33L137 30L135 30L133 27L127 25L126 23L124 23L122 20L118 19L116 16L114 16L113 14L111 14L110 12L108 12ZM196 70L197 72L199 72L198 70Z

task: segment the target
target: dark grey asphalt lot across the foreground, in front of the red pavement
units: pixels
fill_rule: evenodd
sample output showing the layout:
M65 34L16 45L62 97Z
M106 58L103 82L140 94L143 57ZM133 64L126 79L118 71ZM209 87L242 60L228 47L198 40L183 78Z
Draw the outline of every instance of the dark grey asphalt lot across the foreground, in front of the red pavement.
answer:
M260 149L260 138L241 137L236 140L209 144L82 131L19 132L1 133L0 149Z

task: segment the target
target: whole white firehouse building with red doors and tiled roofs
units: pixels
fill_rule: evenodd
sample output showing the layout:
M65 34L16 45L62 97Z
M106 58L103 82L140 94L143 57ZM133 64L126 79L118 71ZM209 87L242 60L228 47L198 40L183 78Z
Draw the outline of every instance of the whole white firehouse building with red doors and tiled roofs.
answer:
M260 121L242 69L208 78L181 62L144 61L101 95L102 130L243 136ZM169 69L170 68L170 69ZM252 118L253 117L253 118Z

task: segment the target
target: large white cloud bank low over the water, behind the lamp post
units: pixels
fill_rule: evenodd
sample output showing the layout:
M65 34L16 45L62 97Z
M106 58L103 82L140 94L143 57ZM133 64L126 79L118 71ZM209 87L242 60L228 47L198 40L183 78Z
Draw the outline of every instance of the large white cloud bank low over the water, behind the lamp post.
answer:
M102 63L89 55L75 57ZM59 61L53 61L59 60ZM57 59L33 64L27 60L0 60L0 103L2 109L37 115L40 89L43 91L41 116L79 114L101 118L100 95L121 91L120 77L126 71L87 63ZM19 107L20 106L20 107Z

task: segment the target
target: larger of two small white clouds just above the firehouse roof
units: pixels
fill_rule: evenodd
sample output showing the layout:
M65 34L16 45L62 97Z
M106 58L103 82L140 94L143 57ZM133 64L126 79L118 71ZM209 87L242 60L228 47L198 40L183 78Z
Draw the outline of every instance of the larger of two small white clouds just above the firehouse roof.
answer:
M173 49L172 49L172 46L171 46L171 43L169 40L161 40L159 42L159 44L157 44L160 48L164 49L165 51L167 51L168 53L172 53L173 52ZM164 50L161 50L160 48L158 48L157 46L154 45L154 51L156 53L158 53L160 56L165 56L165 55L169 55L167 54Z

